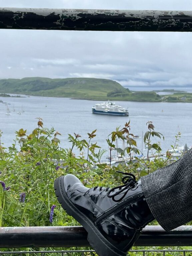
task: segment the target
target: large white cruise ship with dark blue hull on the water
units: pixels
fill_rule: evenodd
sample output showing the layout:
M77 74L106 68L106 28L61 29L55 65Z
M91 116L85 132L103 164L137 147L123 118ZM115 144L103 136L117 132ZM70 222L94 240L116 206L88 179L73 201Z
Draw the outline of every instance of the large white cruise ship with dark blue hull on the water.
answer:
M103 102L95 104L94 107L92 107L92 113L93 114L107 114L107 115L116 115L116 116L128 116L129 112L127 109L122 108L119 105L116 105L112 102Z

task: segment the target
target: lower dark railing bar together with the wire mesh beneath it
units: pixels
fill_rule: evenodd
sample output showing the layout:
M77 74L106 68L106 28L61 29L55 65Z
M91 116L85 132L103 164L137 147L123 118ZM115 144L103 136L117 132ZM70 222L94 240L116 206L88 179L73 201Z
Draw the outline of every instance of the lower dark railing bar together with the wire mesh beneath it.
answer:
M0 249L0 256L95 256L94 250L77 250L78 247L89 246L87 232L81 226L0 228L0 248L3 248ZM160 226L146 226L134 246L192 246L192 226L181 226L170 232L166 232ZM55 250L57 247L60 250ZM71 250L72 247L74 250ZM50 248L54 250L49 250ZM192 250L144 248L128 252L130 256L148 256L149 253L152 256L191 256Z

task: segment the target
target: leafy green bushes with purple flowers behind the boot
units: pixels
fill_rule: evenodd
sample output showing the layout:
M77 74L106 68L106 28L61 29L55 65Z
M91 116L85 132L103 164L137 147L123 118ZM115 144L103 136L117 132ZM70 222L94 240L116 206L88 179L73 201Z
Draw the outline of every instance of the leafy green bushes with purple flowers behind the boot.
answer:
M53 182L56 177L72 173L88 187L114 187L121 183L122 174L116 171L131 172L137 179L157 168L166 166L171 158L161 157L159 143L153 143L153 137L163 138L154 130L151 121L147 122L144 143L154 160L133 157L140 154L137 143L130 132L130 122L123 128L113 131L106 142L112 151L121 156L129 155L127 164L111 166L101 163L105 153L97 143L92 143L96 130L87 133L87 139L79 134L68 134L71 148L59 146L61 134L53 128L43 128L43 120L37 118L37 128L31 134L20 129L16 131L14 143L5 148L0 132L0 226L74 226L79 225L76 220L62 210L54 195ZM177 146L180 134L176 135L173 152ZM116 139L125 142L124 149L116 148ZM74 154L74 149L78 154ZM133 158L137 161L133 161ZM111 162L111 158L110 158ZM157 225L153 221L153 225ZM36 248L37 249L37 248ZM30 249L31 250L31 249Z

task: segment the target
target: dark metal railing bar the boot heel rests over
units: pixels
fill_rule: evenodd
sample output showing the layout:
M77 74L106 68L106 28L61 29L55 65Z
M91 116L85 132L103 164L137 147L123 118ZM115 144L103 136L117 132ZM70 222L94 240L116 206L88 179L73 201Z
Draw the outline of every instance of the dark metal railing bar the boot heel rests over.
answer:
M0 248L89 246L83 227L2 227ZM192 246L192 226L146 226L135 246Z

